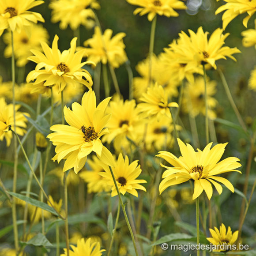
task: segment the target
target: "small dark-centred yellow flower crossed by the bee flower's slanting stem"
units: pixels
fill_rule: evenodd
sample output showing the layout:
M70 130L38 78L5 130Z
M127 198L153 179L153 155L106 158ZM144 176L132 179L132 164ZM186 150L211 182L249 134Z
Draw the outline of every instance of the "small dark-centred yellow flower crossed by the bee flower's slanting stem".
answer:
M109 170L109 166L106 166L105 172L100 172L99 174L104 177L105 182L112 187L111 196L117 196L117 189L115 187L111 172ZM117 159L117 163L112 167L115 180L117 181L117 187L121 194L125 194L126 192L132 194L133 196L138 197L138 192L136 189L141 189L146 191L139 183L147 183L145 180L136 180L136 178L141 173L140 165L138 165L138 160L133 161L129 164L129 158L126 155L123 158L120 153Z

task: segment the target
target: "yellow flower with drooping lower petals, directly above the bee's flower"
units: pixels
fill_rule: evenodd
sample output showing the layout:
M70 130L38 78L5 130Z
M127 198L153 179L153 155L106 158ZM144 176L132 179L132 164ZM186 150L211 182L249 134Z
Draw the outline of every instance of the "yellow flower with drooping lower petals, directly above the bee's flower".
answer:
M82 83L89 89L92 86L90 73L82 67L86 64L94 64L90 61L81 62L83 50L75 53L76 40L73 38L70 49L62 53L58 49L58 36L53 39L52 48L45 42L41 43L44 54L38 50L31 50L34 56L28 59L37 63L35 70L32 70L26 78L27 83L33 81L34 85L43 83L46 87L57 85L59 90L64 90L67 83L76 85Z

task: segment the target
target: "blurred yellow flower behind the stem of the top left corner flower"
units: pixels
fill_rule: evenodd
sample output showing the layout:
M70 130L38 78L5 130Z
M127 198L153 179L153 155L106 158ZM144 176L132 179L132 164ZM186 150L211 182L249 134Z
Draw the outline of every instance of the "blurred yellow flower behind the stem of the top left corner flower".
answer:
M23 67L28 63L27 58L31 56L31 49L41 51L41 42L48 43L49 34L47 30L41 25L32 25L24 27L20 32L13 32L13 46L14 55L16 58L16 65ZM12 54L11 49L11 32L4 34L4 42L7 47L4 49L4 56L10 58Z

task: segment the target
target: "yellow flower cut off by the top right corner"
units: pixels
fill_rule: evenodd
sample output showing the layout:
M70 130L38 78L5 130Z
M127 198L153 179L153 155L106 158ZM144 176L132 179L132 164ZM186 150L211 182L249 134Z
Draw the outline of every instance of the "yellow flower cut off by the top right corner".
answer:
M248 20L256 11L256 2L250 0L224 0L224 2L226 2L226 4L223 4L215 11L215 15L225 11L222 15L223 28L226 29L226 26L234 18L245 12L247 12L248 16L243 19L243 25L247 27Z

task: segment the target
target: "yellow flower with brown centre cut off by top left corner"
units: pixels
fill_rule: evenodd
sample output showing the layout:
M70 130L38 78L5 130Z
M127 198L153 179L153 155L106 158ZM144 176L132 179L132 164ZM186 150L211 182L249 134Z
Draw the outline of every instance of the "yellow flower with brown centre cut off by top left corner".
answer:
M45 22L41 14L28 11L29 9L44 3L41 0L1 0L0 2L0 36L5 29L11 31L30 26L38 21ZM31 23L32 22L32 23Z

